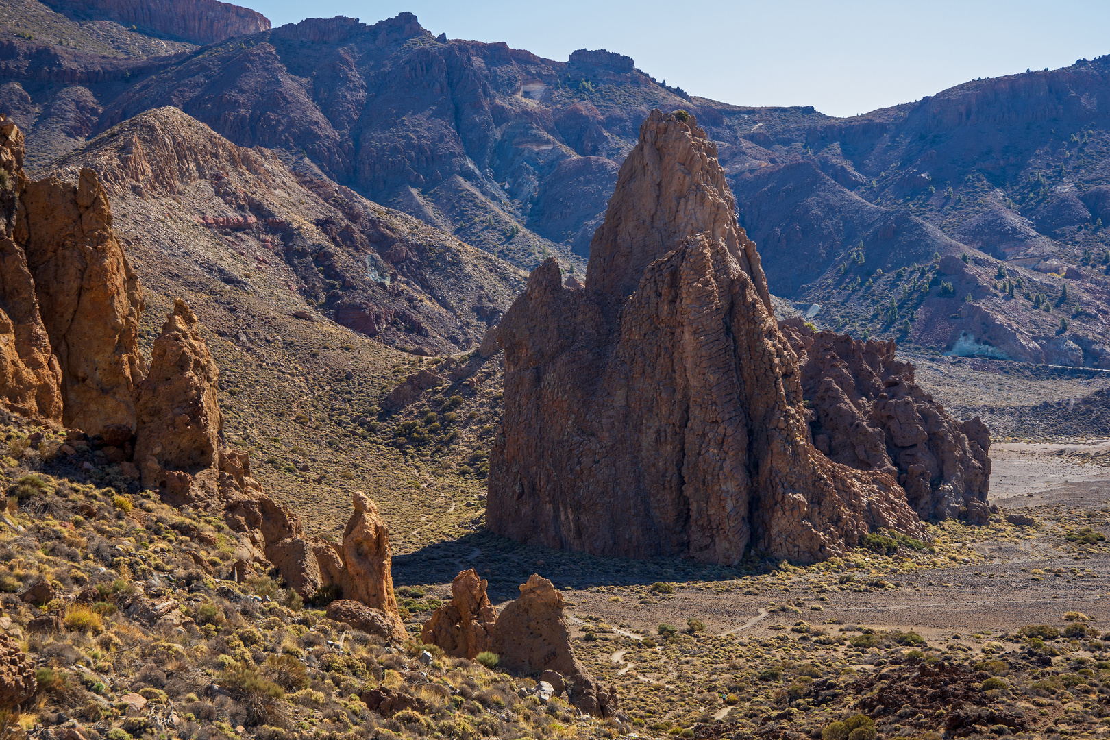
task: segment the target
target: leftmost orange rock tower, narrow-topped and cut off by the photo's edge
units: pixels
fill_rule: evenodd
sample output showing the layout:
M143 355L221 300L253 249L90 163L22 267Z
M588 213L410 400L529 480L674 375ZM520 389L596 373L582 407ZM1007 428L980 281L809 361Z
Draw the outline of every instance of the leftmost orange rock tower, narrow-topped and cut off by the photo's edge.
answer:
M62 420L62 372L42 324L27 254L16 243L23 133L0 115L0 406L43 422Z

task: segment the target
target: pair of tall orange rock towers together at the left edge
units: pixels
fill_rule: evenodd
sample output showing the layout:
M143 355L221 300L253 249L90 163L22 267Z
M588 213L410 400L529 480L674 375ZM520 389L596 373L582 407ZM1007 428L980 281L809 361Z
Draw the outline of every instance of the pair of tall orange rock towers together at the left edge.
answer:
M0 333L12 339L3 354L13 379L4 396L12 408L89 435L133 432L134 387L145 371L138 351L142 293L112 232L108 196L88 169L75 186L28 180L19 129L0 120L0 139L8 316Z

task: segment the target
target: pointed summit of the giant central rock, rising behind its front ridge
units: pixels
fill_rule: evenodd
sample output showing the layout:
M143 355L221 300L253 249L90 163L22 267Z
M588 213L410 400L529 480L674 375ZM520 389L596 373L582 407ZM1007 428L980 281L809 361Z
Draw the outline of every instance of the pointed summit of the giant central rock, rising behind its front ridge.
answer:
M586 287L626 297L647 265L699 233L725 245L770 312L759 254L736 221L736 200L717 146L686 111L653 110L620 166L605 223L589 244Z

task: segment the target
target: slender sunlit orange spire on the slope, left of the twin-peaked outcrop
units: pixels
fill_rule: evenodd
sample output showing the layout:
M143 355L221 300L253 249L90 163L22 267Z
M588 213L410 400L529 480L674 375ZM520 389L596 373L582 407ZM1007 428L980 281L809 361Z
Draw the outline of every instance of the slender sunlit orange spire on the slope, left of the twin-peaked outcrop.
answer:
M361 490L352 496L354 511L343 531L340 548L343 574L340 586L343 598L361 601L381 609L401 625L397 598L393 594L393 575L390 549L390 529L377 514L377 507ZM397 628L397 638L405 639L404 629Z

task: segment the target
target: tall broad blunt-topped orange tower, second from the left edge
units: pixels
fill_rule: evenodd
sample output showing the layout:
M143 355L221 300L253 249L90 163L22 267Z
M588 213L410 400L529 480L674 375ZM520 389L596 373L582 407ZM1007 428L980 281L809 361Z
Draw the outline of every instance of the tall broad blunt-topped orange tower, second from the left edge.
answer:
M62 372L62 420L98 435L135 427L138 349L143 308L139 276L112 231L97 173L77 186L57 178L23 187L13 230L34 280L39 312Z

